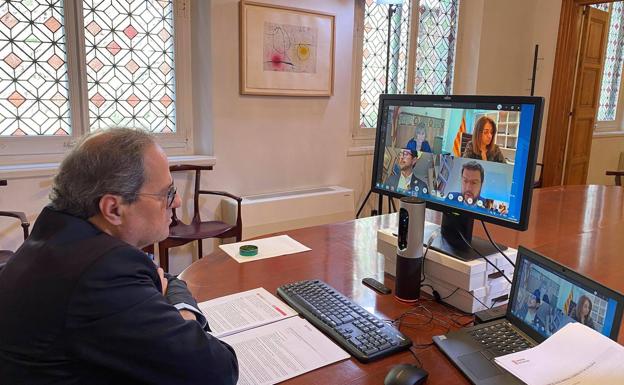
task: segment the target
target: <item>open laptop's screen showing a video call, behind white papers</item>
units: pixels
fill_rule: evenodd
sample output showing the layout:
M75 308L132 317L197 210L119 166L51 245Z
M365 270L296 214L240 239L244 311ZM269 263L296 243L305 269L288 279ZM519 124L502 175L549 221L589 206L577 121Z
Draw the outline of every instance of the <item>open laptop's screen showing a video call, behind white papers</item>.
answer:
M617 335L621 295L526 249L518 257L509 304L517 322L544 339L569 322L582 322L607 337Z

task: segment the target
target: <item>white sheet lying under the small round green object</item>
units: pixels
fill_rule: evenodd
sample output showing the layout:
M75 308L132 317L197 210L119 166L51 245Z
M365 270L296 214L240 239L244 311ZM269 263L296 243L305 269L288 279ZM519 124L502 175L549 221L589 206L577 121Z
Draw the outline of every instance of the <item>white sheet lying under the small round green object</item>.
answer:
M258 246L258 255L253 257L242 257L238 249L243 245ZM251 241L228 243L227 245L219 245L221 250L225 251L236 262L250 262L258 259L278 257L280 255L301 253L302 251L311 250L309 247L295 241L288 235L278 235L276 237L254 239Z

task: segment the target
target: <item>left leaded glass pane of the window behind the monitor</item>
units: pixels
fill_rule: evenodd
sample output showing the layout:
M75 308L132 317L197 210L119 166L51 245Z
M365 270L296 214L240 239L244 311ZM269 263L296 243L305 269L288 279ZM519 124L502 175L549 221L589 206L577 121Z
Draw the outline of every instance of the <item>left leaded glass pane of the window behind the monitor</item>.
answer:
M379 95L386 88L388 47L388 8L366 0L362 44L362 82L360 92L360 126L377 126ZM396 6L392 14L388 93L403 93L407 86L411 1Z

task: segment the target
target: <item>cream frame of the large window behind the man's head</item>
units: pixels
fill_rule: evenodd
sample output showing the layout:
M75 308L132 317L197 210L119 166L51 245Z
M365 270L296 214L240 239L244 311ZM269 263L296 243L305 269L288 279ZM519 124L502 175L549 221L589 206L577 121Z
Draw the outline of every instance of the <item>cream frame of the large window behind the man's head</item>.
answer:
M193 152L193 110L191 81L191 1L172 0L174 34L174 78L176 132L155 134L167 155ZM29 164L60 161L76 141L88 133L89 100L86 74L86 46L82 1L63 2L63 29L69 90L69 136L0 137L0 164Z

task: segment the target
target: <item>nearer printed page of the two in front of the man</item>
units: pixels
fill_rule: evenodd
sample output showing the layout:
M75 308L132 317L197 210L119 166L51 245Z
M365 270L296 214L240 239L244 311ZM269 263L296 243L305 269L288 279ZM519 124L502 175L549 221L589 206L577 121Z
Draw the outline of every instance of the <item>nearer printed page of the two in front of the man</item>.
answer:
M238 358L237 385L268 385L349 358L308 321L299 317L222 338Z

